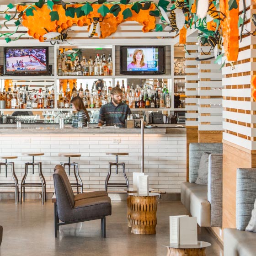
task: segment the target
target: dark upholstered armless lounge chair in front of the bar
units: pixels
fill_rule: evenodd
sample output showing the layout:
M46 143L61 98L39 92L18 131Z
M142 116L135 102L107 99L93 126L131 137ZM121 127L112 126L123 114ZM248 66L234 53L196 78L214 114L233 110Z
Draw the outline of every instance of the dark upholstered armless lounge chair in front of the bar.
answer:
M55 237L60 225L101 219L103 237L106 237L106 216L111 215L111 200L105 191L74 195L63 166L56 165L53 174L56 194L54 216ZM59 223L59 220L62 222Z

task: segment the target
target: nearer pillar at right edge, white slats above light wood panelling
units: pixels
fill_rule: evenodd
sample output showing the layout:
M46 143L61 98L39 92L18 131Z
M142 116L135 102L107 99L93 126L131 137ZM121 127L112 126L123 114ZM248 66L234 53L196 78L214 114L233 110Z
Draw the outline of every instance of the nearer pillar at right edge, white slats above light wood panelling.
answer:
M240 11L242 1L240 1ZM254 1L246 1L245 27L253 31L251 14ZM241 28L240 28L241 29ZM244 32L245 33L245 30ZM235 228L235 193L237 168L256 166L256 102L251 97L251 77L256 74L256 38L243 36L238 60L226 64L223 78L223 228Z

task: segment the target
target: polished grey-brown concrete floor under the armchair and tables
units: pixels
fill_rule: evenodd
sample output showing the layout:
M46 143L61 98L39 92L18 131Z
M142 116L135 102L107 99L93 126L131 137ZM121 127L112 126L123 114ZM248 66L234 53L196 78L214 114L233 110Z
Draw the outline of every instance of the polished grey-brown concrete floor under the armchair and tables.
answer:
M112 201L107 216L107 237L101 237L100 220L61 226L54 238L53 203L27 200L15 205L0 202L0 224L4 234L2 256L165 256L169 243L169 215L187 214L180 201L158 203L156 235L134 235L127 225L126 201ZM223 256L219 242L205 228L198 240L210 242L207 256Z

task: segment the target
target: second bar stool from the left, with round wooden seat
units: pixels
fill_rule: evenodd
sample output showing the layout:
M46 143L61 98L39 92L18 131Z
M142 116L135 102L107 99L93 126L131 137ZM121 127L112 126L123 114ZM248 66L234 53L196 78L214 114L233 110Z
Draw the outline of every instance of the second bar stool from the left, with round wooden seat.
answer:
M42 162L35 162L34 157L39 155L44 155L41 152L35 153L21 153L21 155L28 155L32 156L32 162L27 162L25 164L25 174L21 180L21 203L22 203L22 188L23 188L23 202L25 202L25 187L42 187L42 204L44 204L44 200L46 202L46 182L42 173ZM28 173L28 166L32 165L32 174L34 174L34 166L38 166L38 173L41 180L41 183L26 183L27 173Z

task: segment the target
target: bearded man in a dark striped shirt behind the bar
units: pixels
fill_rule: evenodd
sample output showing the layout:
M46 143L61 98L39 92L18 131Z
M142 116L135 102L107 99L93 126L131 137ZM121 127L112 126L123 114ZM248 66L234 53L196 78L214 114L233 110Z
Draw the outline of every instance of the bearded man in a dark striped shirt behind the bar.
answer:
M106 126L116 125L124 128L127 115L130 115L132 112L127 104L121 102L123 91L119 87L112 88L110 94L111 102L101 107L98 126L106 123Z

